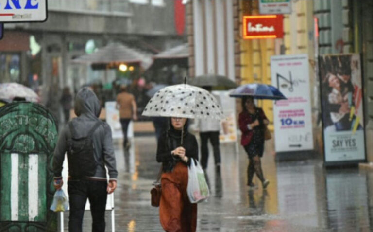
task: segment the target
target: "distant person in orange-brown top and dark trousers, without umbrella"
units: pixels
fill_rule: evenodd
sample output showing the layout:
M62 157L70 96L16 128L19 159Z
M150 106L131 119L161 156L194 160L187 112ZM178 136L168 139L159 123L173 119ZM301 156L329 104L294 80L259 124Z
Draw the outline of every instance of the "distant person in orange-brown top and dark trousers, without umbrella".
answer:
M117 109L119 109L120 124L123 130L123 146L128 149L131 143L128 141L127 131L131 120L137 120L137 105L134 95L127 92L127 87L122 85L117 95Z

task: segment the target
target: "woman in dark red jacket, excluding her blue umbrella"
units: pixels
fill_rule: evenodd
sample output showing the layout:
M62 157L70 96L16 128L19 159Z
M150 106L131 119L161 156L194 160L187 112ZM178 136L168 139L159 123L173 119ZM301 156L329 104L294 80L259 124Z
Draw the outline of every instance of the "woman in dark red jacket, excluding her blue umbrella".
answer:
M269 121L263 109L255 106L253 97L242 98L242 111L238 116L239 129L242 132L241 145L248 157L247 185L252 189L254 174L262 182L263 188L267 188L270 181L264 178L260 158L264 152L264 132Z

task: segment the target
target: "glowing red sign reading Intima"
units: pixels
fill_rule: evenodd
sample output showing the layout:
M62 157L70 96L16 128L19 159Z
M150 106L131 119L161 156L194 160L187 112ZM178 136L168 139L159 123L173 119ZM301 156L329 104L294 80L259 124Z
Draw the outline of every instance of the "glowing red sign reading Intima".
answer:
M255 15L243 17L243 38L263 39L284 36L282 15Z

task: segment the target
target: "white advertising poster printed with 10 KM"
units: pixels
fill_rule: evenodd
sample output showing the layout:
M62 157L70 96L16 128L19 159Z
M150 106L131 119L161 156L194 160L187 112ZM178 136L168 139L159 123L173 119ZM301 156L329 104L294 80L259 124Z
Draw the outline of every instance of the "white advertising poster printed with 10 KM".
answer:
M313 150L307 54L271 56L272 85L286 100L273 103L275 151Z

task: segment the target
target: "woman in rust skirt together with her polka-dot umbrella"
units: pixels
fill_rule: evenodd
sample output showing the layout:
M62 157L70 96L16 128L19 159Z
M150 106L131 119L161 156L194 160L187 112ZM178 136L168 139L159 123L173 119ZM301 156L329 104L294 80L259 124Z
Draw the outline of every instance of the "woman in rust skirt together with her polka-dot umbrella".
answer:
M195 232L197 205L187 194L188 165L198 160L198 144L186 130L188 118L222 117L216 99L206 90L186 84L159 90L145 107L144 116L170 117L169 128L158 141L162 162L159 216L165 231Z

